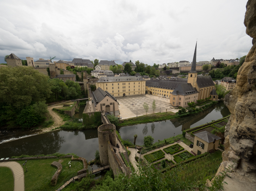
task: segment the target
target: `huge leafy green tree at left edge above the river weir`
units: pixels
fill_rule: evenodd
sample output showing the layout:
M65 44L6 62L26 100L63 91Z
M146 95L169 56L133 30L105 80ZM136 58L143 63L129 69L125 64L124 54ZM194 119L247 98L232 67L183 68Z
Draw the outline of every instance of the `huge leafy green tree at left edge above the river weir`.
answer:
M0 126L30 127L43 121L45 100L51 94L49 80L31 67L0 68Z

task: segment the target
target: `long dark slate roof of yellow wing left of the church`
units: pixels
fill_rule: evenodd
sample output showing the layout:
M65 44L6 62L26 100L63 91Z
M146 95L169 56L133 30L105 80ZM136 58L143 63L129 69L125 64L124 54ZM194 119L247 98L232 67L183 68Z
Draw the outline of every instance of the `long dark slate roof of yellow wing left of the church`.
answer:
M180 84L187 84L186 82L176 82L169 80L146 80L146 86L163 88L167 90L175 90Z

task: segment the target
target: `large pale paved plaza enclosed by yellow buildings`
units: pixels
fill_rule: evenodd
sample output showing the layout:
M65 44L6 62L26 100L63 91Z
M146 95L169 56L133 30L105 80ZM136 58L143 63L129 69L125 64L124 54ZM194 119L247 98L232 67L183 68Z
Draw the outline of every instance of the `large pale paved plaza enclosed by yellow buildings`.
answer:
M156 110L155 113L172 111L176 113L178 110L171 109L172 105L168 98L161 98L154 95L140 95L140 96L131 96L131 97L120 97L117 98L119 102L119 111L122 119L132 118L141 115L146 115L146 112L143 107L143 103L146 102L149 105L149 110L147 114L153 114L152 104L156 100ZM132 105L134 104L134 105Z

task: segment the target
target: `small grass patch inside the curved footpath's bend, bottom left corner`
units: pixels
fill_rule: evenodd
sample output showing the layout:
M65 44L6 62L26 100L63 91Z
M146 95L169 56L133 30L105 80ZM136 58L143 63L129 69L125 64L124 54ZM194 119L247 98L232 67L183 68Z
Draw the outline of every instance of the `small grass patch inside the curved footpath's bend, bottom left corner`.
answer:
M14 190L13 171L8 167L0 167L0 190Z

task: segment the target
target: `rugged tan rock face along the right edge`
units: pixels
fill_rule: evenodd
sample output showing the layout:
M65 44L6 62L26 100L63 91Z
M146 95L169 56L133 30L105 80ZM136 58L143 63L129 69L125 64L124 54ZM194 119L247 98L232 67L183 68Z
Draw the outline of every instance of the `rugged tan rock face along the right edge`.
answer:
M237 161L234 167L249 173L256 170L256 0L247 2L244 24L253 46L238 71L236 87L225 96L231 116L222 157L226 165Z

